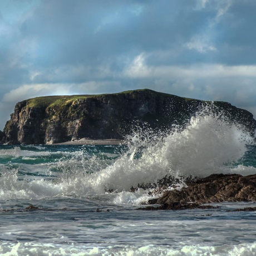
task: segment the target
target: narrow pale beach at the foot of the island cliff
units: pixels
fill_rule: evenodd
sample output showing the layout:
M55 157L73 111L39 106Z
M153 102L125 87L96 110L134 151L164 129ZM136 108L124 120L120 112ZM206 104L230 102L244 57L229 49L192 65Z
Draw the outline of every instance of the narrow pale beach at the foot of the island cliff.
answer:
M61 143L53 143L51 145L119 145L124 144L124 140L118 139L89 139L82 138L80 140L65 141Z

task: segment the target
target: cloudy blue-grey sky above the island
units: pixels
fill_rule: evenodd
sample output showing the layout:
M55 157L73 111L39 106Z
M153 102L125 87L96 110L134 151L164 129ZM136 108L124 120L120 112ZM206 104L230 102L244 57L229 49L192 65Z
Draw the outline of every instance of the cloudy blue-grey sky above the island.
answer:
M18 101L139 88L256 117L255 0L0 0L0 129Z

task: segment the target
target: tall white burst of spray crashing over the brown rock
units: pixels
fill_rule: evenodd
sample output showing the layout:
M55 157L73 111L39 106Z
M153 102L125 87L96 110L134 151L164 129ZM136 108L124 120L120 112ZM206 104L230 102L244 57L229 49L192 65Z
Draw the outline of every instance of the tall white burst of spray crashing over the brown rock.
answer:
M95 190L129 190L132 185L156 183L166 175L180 178L228 173L224 166L238 161L253 141L212 104L191 117L184 130L176 127L166 136L157 135L141 131L128 137L126 154L91 180Z

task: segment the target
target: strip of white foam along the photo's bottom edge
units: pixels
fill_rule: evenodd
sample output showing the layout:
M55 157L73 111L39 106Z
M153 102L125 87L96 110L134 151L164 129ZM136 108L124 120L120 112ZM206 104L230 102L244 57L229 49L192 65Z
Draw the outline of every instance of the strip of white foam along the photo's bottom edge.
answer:
M196 256L196 255L221 255L221 256L254 256L256 255L256 243L223 245L223 246L200 246L185 245L181 248L145 245L140 247L124 248L101 248L87 247L86 245L74 244L51 244L51 243L2 243L0 245L1 255L174 255L174 256Z

